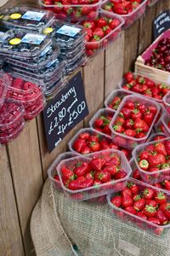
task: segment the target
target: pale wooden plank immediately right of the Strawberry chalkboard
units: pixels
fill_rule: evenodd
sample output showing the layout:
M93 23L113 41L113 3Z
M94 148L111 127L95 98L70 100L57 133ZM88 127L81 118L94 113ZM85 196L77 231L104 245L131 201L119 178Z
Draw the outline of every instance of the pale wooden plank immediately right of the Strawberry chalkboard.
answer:
M83 79L86 100L88 102L89 114L84 119L84 125L88 126L89 119L94 113L103 107L104 101L104 52L96 55L94 59L88 62L83 68Z

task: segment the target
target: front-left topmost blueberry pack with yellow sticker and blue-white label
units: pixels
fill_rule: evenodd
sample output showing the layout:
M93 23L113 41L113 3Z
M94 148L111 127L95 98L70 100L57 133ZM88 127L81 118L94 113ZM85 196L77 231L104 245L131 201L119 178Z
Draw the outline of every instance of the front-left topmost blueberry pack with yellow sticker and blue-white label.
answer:
M9 30L0 42L0 54L12 58L39 58L52 41L46 35L21 29Z

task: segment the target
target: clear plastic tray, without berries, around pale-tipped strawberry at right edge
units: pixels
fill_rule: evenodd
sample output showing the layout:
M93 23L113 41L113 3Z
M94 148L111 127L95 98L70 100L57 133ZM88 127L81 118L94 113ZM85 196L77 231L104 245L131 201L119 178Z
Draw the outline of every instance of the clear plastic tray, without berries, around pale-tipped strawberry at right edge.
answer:
M160 143L164 143L167 141L170 141L170 137L166 137L166 138L159 140ZM155 143L156 142L144 143L144 144L139 145L133 149L133 160L135 161L135 164L136 164L137 168L139 169L142 179L144 180L144 182L151 183L151 184L161 183L165 179L167 179L167 180L170 179L170 167L167 169L156 171L156 172L147 172L147 171L142 170L139 166L139 163L138 163L139 153L142 152L144 150L144 148L146 148L146 146L153 145Z

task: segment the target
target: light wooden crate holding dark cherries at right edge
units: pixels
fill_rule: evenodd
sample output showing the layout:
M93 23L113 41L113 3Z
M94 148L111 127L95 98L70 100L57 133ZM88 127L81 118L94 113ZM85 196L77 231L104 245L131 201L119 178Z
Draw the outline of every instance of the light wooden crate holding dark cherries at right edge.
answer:
M147 48L142 55L139 55L137 61L135 62L135 73L143 75L144 77L155 79L156 81L161 81L166 84L170 84L170 73L167 71L163 71L161 69L157 69L155 67L149 67L144 65L144 62L150 58L150 55L153 49L156 48L159 40L161 38L169 38L170 37L170 29L167 32L164 32L161 36L156 38L153 44Z

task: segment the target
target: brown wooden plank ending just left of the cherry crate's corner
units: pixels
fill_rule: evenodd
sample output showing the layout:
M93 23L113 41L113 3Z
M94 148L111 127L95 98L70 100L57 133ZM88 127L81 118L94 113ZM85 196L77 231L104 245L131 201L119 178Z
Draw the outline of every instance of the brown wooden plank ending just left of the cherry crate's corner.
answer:
M124 73L133 71L134 61L138 56L139 20L125 30Z

